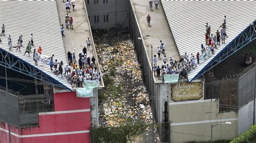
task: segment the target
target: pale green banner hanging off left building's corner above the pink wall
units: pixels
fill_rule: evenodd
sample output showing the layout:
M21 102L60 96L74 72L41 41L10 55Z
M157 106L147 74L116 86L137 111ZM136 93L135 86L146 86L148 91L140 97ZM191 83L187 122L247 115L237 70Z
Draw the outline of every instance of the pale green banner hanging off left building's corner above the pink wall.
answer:
M98 80L85 80L84 81L84 88L77 88L76 94L77 97L92 97L93 96L93 88L99 87Z

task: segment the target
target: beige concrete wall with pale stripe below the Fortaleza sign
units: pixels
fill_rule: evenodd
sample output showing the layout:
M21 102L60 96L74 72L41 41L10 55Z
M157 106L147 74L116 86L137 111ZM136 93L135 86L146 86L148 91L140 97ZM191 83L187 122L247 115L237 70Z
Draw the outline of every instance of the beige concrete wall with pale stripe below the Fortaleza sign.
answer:
M231 121L213 128L213 140L237 137L237 112L219 112L219 100L207 99L169 103L170 141L210 141L211 124Z

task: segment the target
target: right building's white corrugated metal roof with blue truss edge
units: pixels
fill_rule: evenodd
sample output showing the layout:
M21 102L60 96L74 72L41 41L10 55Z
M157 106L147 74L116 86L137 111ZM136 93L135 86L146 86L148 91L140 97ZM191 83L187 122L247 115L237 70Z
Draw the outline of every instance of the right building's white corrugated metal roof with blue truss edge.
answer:
M215 33L223 23L226 15L228 38L225 44L215 49L214 55L201 61L196 69L188 72L191 81L221 49L229 44L247 26L256 19L256 2L254 0L169 0L161 1L166 18L171 28L180 55L201 53L201 44L205 45L205 25L211 26Z

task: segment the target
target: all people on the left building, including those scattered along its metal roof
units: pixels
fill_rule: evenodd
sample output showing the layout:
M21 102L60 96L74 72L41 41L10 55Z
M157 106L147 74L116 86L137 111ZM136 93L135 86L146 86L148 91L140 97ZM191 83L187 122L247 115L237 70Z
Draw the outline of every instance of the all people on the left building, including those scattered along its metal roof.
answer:
M75 0L72 0L71 3L72 3L73 10L74 10ZM69 5L69 0L67 0L66 5ZM69 10L69 9L67 9L67 10ZM73 21L72 17L70 17L69 14L67 14L65 16L66 28L69 28L69 26L70 26L70 28L73 28L72 21ZM62 35L64 35L63 25L62 25L61 31L62 31ZM4 24L2 25L1 37L3 35L5 36L5 25ZM9 51L11 51L12 48L16 48L16 52L17 52L17 50L19 50L19 52L21 52L21 47L23 47L23 35L19 36L16 46L12 45L11 35L8 36L7 40L8 40ZM72 85L72 87L83 87L85 80L98 80L99 82L101 82L100 80L101 80L102 75L96 68L95 57L92 56L92 58L90 58L90 56L87 55L87 50L90 50L90 46L91 46L90 38L87 38L86 43L87 43L87 48L84 47L83 51L81 51L79 53L78 62L76 59L76 49L75 48L73 49L72 53L70 53L70 52L67 53L69 63L65 67L63 66L64 65L63 61L59 62L57 59L53 59L54 54L52 54L52 56L50 56L50 58L49 58L49 66L50 66L50 70L53 72L53 74L56 76L66 77L66 79ZM35 46L34 46L34 41L33 41L33 34L31 34L30 40L28 42L28 45L25 48L25 52L23 55L28 53L30 56L31 49L33 47L35 47ZM34 48L33 60L35 61L35 65L38 64L37 63L37 61L38 61L37 53L42 54L42 51L43 51L43 49L41 46L39 46L37 49ZM64 73L63 73L63 67L64 67Z

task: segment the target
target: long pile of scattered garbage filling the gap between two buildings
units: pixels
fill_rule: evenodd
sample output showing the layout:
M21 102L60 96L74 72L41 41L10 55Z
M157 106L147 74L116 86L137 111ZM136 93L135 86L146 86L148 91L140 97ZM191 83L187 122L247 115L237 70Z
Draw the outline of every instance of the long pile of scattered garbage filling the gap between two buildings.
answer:
M98 91L105 97L99 105L99 126L119 126L137 120L151 124L150 101L130 35L94 38L103 77L110 76L113 80L112 87Z

